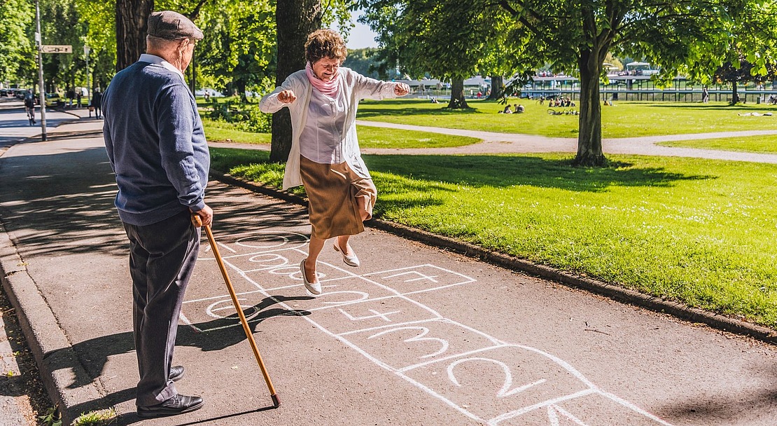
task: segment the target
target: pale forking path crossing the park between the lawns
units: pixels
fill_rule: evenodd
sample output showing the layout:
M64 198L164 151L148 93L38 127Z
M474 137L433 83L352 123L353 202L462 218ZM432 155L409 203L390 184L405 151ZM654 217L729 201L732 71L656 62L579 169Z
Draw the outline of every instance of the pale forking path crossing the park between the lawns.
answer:
M506 154L527 152L577 152L577 138L548 138L535 134L497 133L492 131L472 131L449 129L444 127L413 126L409 124L383 123L379 121L357 120L361 126L387 127L411 131L427 131L439 134L452 134L478 138L481 141L453 148L362 148L364 154L402 154L402 155L455 155L455 154ZM722 159L729 161L766 162L777 164L777 155L754 152L722 151L717 149L673 148L656 145L665 141L689 141L694 139L737 138L777 134L774 131L724 131L716 133L671 134L664 136L646 136L640 138L608 138L602 140L606 154L663 155L674 157L692 157L699 159ZM229 142L211 142L216 148L245 148L267 151L270 145L247 145Z

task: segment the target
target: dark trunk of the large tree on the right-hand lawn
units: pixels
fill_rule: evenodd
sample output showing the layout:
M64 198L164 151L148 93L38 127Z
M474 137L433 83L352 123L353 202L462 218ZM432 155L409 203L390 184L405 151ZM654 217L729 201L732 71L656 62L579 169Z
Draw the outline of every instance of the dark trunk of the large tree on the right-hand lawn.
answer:
M580 133L575 166L604 166L607 162L601 151L601 61L598 56L591 50L580 52Z

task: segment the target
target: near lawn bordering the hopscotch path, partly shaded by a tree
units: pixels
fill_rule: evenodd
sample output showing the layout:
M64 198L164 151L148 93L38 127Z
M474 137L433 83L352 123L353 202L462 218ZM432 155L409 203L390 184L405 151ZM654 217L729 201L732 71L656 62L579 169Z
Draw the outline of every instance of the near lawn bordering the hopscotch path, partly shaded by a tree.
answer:
M280 186L267 152L212 151ZM777 166L609 158L365 155L378 217L777 328Z

